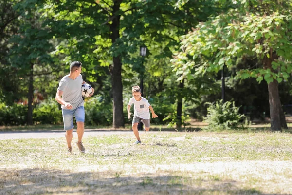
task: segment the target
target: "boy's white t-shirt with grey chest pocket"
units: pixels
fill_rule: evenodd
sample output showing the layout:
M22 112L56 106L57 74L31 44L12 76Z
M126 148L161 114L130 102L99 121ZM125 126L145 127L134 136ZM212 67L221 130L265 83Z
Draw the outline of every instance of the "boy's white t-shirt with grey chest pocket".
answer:
M134 104L134 116L142 119L150 119L149 102L141 96L140 101L136 101L134 97L130 98L128 105Z

